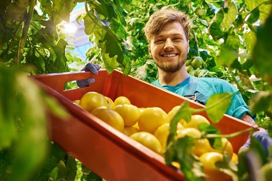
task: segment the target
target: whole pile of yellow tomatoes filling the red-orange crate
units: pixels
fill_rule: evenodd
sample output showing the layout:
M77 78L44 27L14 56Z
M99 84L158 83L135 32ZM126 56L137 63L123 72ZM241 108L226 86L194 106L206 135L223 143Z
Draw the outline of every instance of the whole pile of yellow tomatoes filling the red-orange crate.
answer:
M73 102L162 156L164 156L167 138L170 134L170 121L180 108L180 106L176 106L169 113L159 107L138 108L132 105L126 97L118 97L113 101L96 92L88 92L83 95L81 100ZM210 176L211 179L207 180L217 180L218 178L231 180L231 176L219 170L215 163L223 161L223 151L230 155L232 162L238 161L232 144L223 137L221 138L223 150L213 148L209 140L203 138L202 133L198 130L200 123L210 125L210 122L201 115L192 115L189 122L183 119L179 120L176 139L185 136L195 138L192 153L199 158L203 164L204 172ZM173 165L179 167L178 163L173 163Z

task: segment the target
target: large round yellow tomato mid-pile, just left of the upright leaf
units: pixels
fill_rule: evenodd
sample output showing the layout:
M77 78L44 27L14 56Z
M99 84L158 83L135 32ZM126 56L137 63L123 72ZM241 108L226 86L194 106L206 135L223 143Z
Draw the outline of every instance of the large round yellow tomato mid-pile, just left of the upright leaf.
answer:
M168 115L158 107L144 109L138 120L140 130L152 134L164 123L169 123Z

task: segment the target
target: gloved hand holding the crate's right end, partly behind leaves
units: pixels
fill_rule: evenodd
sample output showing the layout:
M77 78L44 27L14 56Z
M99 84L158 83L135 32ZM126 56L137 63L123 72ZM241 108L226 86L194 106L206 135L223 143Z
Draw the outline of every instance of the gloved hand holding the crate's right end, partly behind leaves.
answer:
M261 131L261 132L255 132L252 134L253 137L255 137L263 147L266 156L269 155L269 148L272 145L272 138L268 135L267 131ZM243 149L247 149L250 145L250 136L248 137L246 143L240 148L239 152Z

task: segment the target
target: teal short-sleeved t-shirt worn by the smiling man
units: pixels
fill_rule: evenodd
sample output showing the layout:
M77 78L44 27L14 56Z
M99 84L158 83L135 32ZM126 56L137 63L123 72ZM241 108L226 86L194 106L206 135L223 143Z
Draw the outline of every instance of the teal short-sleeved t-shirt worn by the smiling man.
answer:
M189 80L190 76L175 86L160 85L159 79L152 82L152 84L167 89L168 91L178 95L184 96ZM198 79L195 91L198 91L203 96L207 97L207 99L209 99L215 93L236 93L238 90L226 80L220 78L200 77ZM249 111L249 107L245 104L242 95L239 93L232 96L232 102L226 114L241 119L246 113L248 113L255 120L254 116Z

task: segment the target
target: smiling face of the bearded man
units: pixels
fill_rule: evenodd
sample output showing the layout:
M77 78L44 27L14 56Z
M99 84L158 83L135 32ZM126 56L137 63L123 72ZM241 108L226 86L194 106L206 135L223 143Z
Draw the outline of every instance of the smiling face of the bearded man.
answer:
M189 41L186 40L181 24L171 22L151 39L148 48L150 56L160 69L176 72L185 64Z

